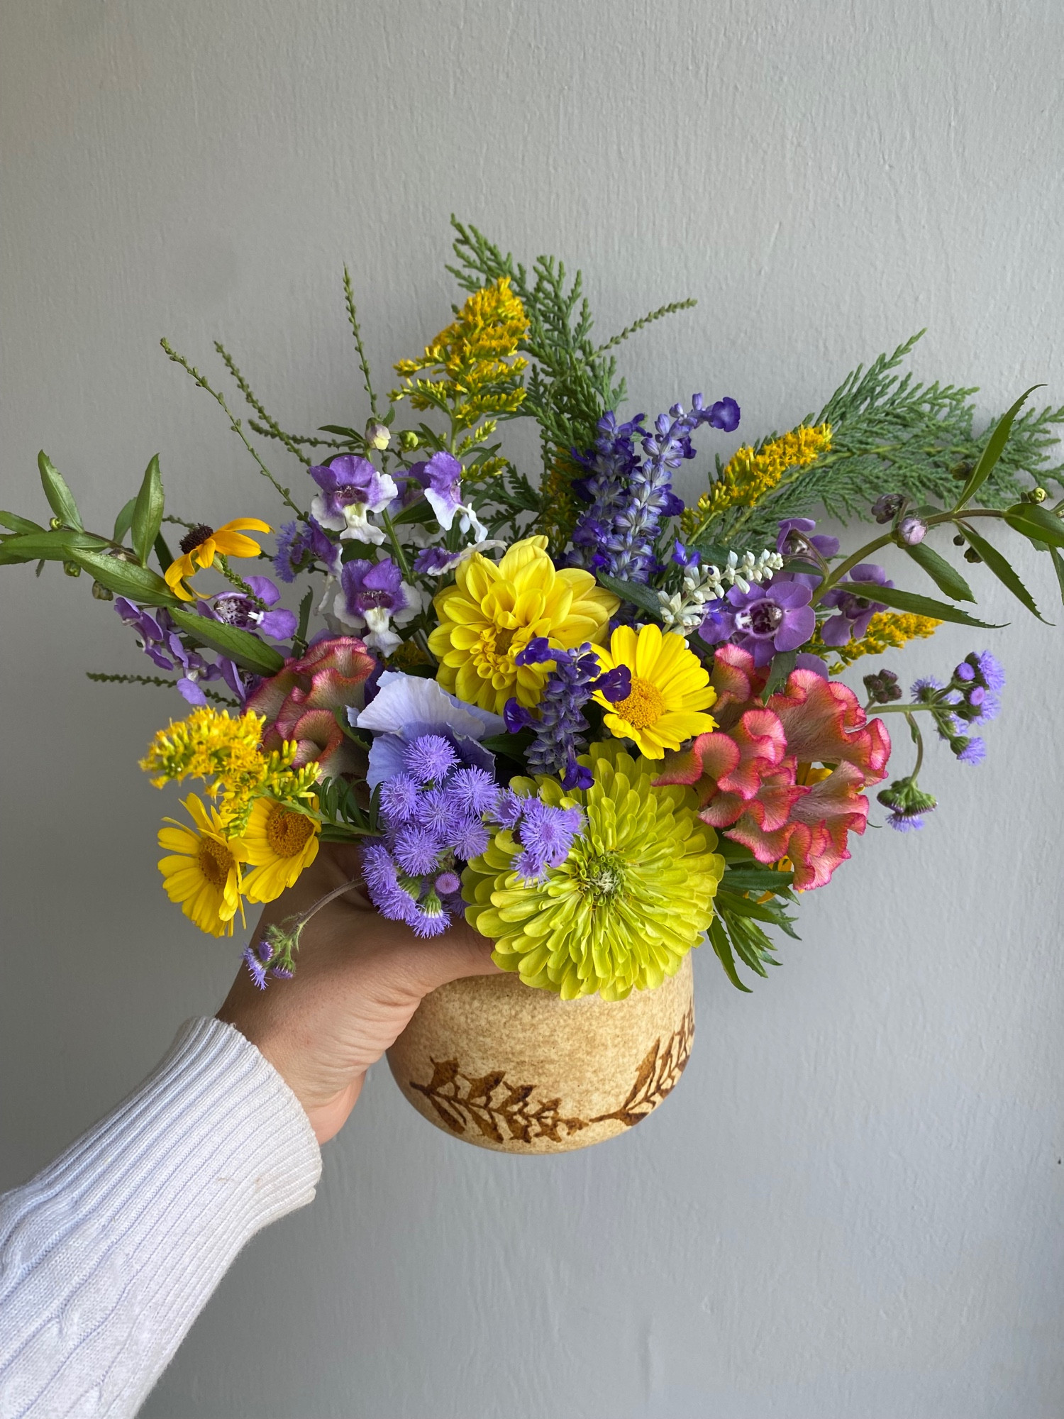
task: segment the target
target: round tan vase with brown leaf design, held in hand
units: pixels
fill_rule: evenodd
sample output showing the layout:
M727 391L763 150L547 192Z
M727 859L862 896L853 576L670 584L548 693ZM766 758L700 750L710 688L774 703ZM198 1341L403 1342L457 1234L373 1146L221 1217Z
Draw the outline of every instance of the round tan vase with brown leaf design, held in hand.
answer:
M680 1080L695 1032L691 956L627 1000L559 1000L516 975L427 995L387 1051L430 1124L498 1152L587 1148L627 1132Z

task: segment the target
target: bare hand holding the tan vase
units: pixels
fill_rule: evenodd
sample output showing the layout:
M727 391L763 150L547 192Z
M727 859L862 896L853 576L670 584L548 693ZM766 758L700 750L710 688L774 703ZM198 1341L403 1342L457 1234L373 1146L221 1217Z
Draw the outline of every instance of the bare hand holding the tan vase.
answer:
M264 910L253 939L358 876L358 849L322 843L295 887ZM423 941L379 917L359 887L304 928L294 979L260 990L241 968L217 1017L270 1060L323 1144L343 1127L366 1070L403 1033L421 998L447 981L497 971L491 942L464 921Z

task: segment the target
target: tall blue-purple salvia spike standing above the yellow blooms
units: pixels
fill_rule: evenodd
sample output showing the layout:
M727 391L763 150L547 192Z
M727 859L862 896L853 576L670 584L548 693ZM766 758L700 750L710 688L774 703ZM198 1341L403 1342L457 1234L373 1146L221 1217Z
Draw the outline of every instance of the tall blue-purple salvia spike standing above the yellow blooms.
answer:
M590 501L573 531L577 558L587 566L630 582L645 582L657 568L654 543L663 518L675 517L684 504L672 492L672 471L685 458L694 458L691 434L699 424L732 430L739 424L739 406L721 399L709 409L701 394L691 402L691 413L674 404L660 414L653 433L641 424L643 414L628 424L617 424L607 413L599 421L599 438L589 454L573 457L589 470L573 488ZM641 440L643 461L634 450Z

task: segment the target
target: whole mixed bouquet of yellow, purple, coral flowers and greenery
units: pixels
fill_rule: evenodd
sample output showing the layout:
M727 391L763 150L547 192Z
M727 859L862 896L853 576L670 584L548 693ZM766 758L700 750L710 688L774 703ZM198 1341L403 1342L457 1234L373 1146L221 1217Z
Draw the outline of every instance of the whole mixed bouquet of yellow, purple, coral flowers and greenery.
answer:
M739 426L739 404L694 394L621 420L611 352L694 302L599 345L579 274L553 258L529 272L475 228L455 236L467 298L387 397L345 272L367 421L287 433L218 345L245 429L163 341L287 508L272 545L257 518L167 514L157 458L111 535L91 532L41 454L52 517L0 512L0 562L85 573L159 671L91 678L172 687L190 707L143 768L160 788L203 783L159 833L166 893L201 931L231 934L322 841L356 841L383 917L421 937L464 917L528 986L621 1000L708 938L745 989L741 965L775 964L769 931L794 934L796 893L850 856L868 789L892 773L878 802L911 832L935 809L925 735L982 759L973 731L1004 678L989 651L908 697L887 668L863 694L840 675L942 622L986 624L963 609L975 593L951 541L1036 616L993 528L1046 552L1064 586L1046 492L1064 409L1023 412L1029 390L977 436L975 390L897 373L909 341L816 417L704 461L685 507L677 470ZM538 424L536 480L499 437L522 417ZM250 434L292 461L292 487ZM871 517L875 535L843 552L819 509ZM887 546L912 589L872 561ZM901 769L887 715L915 741ZM295 969L306 920L245 949L258 986Z

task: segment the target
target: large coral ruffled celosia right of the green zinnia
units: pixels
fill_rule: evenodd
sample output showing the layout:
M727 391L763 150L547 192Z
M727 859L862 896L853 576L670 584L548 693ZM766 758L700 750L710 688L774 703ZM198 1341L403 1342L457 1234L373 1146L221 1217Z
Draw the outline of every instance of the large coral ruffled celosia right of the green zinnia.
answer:
M655 782L691 785L702 822L760 863L789 857L797 888L823 887L850 856L847 834L864 833L861 789L885 776L885 725L867 722L851 690L811 670L792 671L783 692L762 704L763 677L735 646L718 650L714 683L721 732L668 755ZM829 772L810 772L814 763Z

